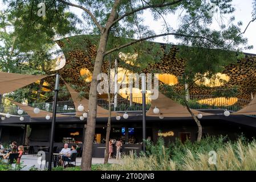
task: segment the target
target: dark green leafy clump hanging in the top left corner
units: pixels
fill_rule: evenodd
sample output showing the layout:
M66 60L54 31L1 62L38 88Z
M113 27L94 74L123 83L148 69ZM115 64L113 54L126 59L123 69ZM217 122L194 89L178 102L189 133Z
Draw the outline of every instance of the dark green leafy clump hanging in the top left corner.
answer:
M39 3L42 1L3 1L9 5L6 10L8 19L13 21L13 34L17 37L17 46L21 51L31 48L40 49L45 44L52 44L55 36L79 33L73 25L79 19L70 12L64 12L65 6L55 1L44 1L47 13L38 16Z

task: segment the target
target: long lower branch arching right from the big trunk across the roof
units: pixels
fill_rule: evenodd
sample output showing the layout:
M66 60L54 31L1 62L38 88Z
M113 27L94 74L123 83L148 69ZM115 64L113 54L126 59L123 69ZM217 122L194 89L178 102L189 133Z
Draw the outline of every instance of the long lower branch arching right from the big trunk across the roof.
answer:
M117 50L119 50L119 49L121 49L121 48L125 48L125 47L128 47L128 46L131 46L131 45L133 45L133 44L142 42L142 41L144 41L144 40L153 39L153 38L157 38L157 37L160 37L160 36L166 36L166 35L184 36L184 37L187 37L187 38L196 38L196 39L200 38L200 39L208 40L209 42L212 42L212 43L214 43L214 44L216 44L216 45L218 44L218 43L213 42L212 40L210 40L209 38L206 38L206 37L204 37L204 36L192 36L192 35L185 35L185 34L178 34L178 33L166 33L166 34L159 34L159 35L148 36L148 37L146 37L146 38L142 38L142 39L139 39L139 40L134 40L134 41L129 42L129 43L127 43L127 44L124 44L124 45L122 45L122 46L119 46L119 47L110 49L109 51L106 51L106 52L104 53L104 55L108 55L109 53L112 53L112 52L114 52L114 51L117 51Z

